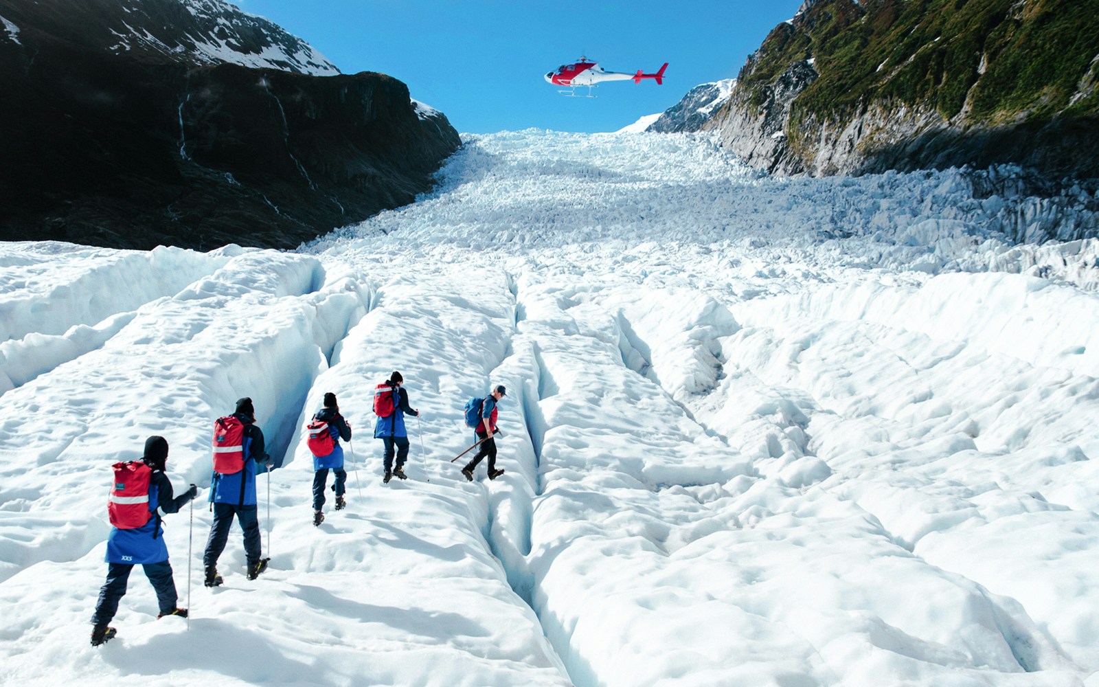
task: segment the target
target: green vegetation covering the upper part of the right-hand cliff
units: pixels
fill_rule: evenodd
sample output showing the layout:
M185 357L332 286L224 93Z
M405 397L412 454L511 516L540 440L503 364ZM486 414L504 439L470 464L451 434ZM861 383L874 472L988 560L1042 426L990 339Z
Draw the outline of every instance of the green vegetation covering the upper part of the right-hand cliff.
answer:
M813 58L820 78L795 100L792 128L869 103L963 126L1095 117L1097 35L1097 0L818 0L770 33L740 85L759 102L789 65Z

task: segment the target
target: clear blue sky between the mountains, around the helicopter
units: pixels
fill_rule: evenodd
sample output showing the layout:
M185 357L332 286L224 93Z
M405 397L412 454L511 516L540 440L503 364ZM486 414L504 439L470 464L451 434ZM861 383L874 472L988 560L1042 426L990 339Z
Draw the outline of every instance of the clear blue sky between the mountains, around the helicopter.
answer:
M232 0L309 42L344 74L381 71L442 110L459 132L615 131L690 88L735 77L802 0ZM546 71L587 55L663 86L610 82L567 98Z

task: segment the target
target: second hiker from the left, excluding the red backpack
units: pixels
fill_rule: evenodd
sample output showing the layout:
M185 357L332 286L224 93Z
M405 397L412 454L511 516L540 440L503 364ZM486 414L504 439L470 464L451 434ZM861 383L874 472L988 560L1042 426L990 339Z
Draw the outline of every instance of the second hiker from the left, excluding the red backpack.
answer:
M256 509L256 472L270 469L270 456L264 452L264 433L256 426L256 411L251 398L236 401L236 418L243 425L241 445L235 448L242 456L243 466L234 473L214 470L210 481L210 500L213 502L213 527L207 540L202 563L206 567L206 586L217 587L224 580L218 574L218 558L225 550L233 518L241 523L244 532L244 554L248 562L247 577L255 579L267 569L267 559L260 558L259 519ZM220 448L214 448L215 455Z

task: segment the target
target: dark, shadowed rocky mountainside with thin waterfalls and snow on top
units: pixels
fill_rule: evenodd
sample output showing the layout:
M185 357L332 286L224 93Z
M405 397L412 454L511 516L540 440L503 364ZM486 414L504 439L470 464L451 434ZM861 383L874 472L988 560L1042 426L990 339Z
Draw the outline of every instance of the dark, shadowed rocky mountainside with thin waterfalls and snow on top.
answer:
M411 202L460 141L222 0L0 0L0 239L293 247Z

